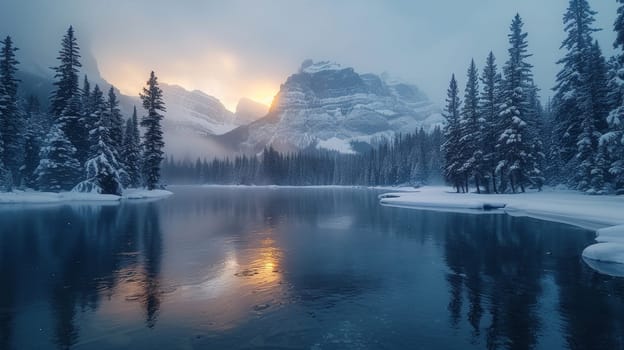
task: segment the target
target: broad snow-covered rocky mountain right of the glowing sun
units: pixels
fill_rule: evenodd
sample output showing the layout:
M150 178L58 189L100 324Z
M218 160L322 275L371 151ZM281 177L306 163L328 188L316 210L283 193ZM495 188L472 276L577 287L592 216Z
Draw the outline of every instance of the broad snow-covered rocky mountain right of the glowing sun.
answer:
M350 153L358 144L441 123L439 109L414 85L307 60L281 85L266 117L218 139L244 153L266 145Z

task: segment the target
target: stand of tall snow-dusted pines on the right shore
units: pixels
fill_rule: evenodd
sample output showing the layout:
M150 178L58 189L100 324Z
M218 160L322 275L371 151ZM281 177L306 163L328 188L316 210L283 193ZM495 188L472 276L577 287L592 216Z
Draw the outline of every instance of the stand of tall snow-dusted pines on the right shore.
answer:
M565 55L546 108L519 15L502 73L491 52L480 75L473 60L463 101L451 77L443 173L457 192L470 185L477 192L524 192L545 183L589 194L624 192L624 0L618 2L614 46L620 52L607 61L592 37L596 12L587 0L570 0Z

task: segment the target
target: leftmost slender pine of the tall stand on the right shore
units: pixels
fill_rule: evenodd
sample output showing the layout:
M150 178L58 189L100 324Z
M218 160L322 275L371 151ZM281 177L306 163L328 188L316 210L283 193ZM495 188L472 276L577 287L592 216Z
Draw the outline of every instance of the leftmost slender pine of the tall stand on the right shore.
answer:
M459 147L461 145L461 126L460 126L460 105L459 90L457 88L457 80L455 74L451 77L449 88L447 90L446 108L444 117L446 125L444 127L444 144L442 144L442 153L444 153L444 177L450 182L457 192L465 192L463 175L461 168L463 162L460 158Z

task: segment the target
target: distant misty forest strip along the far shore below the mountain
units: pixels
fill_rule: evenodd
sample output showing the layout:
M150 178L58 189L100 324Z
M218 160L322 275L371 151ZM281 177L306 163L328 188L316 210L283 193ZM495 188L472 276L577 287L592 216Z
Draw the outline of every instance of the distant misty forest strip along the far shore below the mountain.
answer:
M280 153L271 146L260 155L211 161L175 160L163 164L168 183L235 185L413 185L441 182L442 131L423 129L380 140L357 154L315 148Z

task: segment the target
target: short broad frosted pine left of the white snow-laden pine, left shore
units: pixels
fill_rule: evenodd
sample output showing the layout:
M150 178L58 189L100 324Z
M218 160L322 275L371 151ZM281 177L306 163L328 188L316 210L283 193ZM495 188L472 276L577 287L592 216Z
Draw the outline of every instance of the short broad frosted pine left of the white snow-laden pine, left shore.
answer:
M69 142L63 129L56 124L48 132L39 158L35 174L42 191L70 190L82 173L76 160L76 148Z

